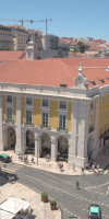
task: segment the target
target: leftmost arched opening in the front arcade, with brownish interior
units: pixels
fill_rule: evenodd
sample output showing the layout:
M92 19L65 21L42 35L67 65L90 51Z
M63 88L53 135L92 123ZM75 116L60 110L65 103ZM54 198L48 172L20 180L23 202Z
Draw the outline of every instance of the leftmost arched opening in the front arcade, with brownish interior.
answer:
M16 145L16 134L14 128L9 127L7 129L7 149L15 150L15 145Z

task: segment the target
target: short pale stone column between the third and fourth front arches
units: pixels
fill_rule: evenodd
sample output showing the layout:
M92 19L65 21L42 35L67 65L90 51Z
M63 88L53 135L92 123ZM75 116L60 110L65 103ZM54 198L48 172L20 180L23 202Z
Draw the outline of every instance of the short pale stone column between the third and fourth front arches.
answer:
M58 141L55 139L55 137L51 137L51 160L57 159L58 153Z

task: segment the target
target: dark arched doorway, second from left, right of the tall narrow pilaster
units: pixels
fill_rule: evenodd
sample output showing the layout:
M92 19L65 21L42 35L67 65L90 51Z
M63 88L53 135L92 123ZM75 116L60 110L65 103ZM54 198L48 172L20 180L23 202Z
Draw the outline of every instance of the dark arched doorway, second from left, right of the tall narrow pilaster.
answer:
M26 131L26 151L25 153L35 153L35 137L32 130Z

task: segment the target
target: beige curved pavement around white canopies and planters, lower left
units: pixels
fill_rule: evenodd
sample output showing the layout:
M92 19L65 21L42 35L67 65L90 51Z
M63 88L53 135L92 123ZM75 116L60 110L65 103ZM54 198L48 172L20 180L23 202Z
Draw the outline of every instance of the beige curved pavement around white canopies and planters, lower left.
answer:
M0 176L1 180L2 176ZM0 187L0 203L4 201L9 197L14 196L16 198L24 199L31 204L33 216L35 219L61 219L61 210L51 210L49 203L43 203L40 195L31 188L20 183L7 183Z

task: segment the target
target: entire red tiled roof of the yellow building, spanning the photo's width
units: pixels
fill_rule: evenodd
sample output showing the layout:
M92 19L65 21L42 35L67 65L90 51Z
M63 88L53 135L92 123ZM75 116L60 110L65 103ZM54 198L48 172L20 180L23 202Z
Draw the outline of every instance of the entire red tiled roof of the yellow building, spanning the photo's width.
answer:
M45 60L10 60L0 64L0 82L24 83L60 87L61 83L69 88L74 85L74 78L78 73L82 62L83 74L96 85L109 84L109 72L105 69L109 66L109 59L99 58L60 58ZM99 81L104 79L105 83ZM92 88L92 83L88 83Z

